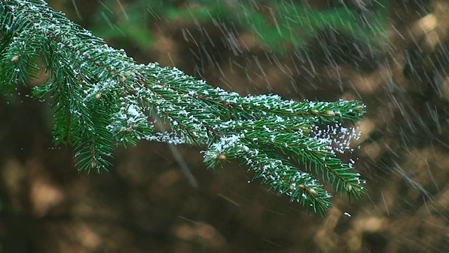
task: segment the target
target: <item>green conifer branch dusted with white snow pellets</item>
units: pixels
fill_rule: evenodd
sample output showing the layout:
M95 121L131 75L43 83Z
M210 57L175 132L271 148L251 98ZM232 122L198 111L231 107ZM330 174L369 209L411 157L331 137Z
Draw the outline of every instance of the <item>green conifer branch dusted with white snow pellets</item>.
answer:
M242 97L175 67L138 65L41 0L0 2L0 88L25 84L43 58L48 80L34 95L53 101L55 143L74 145L79 171L107 170L117 145L149 140L195 145L209 168L238 160L312 212L330 208L328 185L365 193L354 162L337 157L352 151L357 134L341 122L361 119L361 102Z

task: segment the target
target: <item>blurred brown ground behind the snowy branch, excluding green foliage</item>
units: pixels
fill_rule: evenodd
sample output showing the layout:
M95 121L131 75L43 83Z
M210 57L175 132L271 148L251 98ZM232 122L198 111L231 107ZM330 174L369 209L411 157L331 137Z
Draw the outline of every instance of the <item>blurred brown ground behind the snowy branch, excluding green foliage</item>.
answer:
M142 62L175 65L242 94L363 100L355 154L368 179L363 199L337 197L324 218L308 215L248 183L246 168L214 174L199 150L180 147L199 182L193 188L163 143L117 150L110 173L76 174L70 147L51 142L48 106L23 88L0 96L0 252L449 252L449 3L420 2L393 4L391 22L403 37L391 29L391 43L372 58L336 51L336 66L318 47L310 62L289 56L276 64L243 32L250 51L235 56L213 26L206 28L215 47L196 27L161 22L151 52L128 48ZM351 49L347 39L322 39Z

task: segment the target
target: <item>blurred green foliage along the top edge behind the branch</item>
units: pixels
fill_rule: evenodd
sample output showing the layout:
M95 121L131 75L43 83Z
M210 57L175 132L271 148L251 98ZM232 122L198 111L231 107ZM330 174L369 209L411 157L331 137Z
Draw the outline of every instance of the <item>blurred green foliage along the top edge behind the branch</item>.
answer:
M154 37L148 32L159 20L180 25L231 24L248 32L264 47L287 54L307 47L319 32L333 30L356 41L379 46L386 40L389 0L370 1L368 6L350 8L335 1L333 8L314 8L286 0L264 1L145 1L107 0L95 14L93 32L105 39L134 41L148 50ZM369 8L369 9L368 9Z

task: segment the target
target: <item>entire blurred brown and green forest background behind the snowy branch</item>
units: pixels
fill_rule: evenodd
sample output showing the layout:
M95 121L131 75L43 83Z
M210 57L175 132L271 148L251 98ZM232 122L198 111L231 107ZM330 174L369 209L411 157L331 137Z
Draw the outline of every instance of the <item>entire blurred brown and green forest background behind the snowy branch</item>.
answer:
M139 63L180 68L241 95L357 99L356 168L368 195L327 216L214 173L180 146L116 151L77 174L51 139L51 108L0 96L0 252L449 252L449 1L48 1Z

